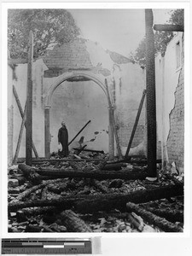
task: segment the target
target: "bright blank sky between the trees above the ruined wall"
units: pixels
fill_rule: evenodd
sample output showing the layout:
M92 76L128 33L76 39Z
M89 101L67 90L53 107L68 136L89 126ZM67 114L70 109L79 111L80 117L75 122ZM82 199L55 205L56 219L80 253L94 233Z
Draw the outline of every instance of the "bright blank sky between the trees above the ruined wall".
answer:
M153 9L154 23L166 23L171 9ZM70 9L81 37L128 56L145 34L144 9Z

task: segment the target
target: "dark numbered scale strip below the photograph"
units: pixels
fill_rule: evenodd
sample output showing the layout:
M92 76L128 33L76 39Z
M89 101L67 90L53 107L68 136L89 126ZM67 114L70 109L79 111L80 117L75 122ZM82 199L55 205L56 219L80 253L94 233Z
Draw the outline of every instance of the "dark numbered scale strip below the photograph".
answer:
M2 254L91 254L90 238L4 238Z

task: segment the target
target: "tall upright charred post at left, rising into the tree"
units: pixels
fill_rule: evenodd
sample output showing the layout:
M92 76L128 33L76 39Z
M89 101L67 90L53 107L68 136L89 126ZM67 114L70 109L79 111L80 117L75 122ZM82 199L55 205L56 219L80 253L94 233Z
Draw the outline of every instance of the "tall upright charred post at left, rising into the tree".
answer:
M26 88L26 165L32 166L32 61L33 35L29 35L29 53Z

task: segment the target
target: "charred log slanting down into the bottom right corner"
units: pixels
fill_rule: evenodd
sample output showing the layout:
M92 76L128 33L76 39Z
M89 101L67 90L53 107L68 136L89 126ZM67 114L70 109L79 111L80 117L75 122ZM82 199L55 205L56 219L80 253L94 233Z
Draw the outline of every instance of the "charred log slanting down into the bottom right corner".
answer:
M164 230L166 232L183 232L183 229L177 224L173 224L172 222L166 220L166 218L161 218L152 212L148 212L132 202L128 202L126 204L126 207L129 212L136 212L142 218L147 220L149 224L154 224L161 230Z

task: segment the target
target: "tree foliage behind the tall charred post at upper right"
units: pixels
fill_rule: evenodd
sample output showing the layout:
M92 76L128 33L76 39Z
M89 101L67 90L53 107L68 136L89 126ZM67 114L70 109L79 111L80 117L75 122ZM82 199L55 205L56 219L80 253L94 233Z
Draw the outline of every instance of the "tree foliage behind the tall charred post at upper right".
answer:
M170 13L170 19L167 20L169 24L184 25L184 11L183 9L172 10ZM154 32L154 50L155 54L161 53L165 55L166 46L172 40L173 32L156 31ZM138 45L136 52L131 53L130 58L133 62L139 63L141 67L145 66L146 59L146 38Z

